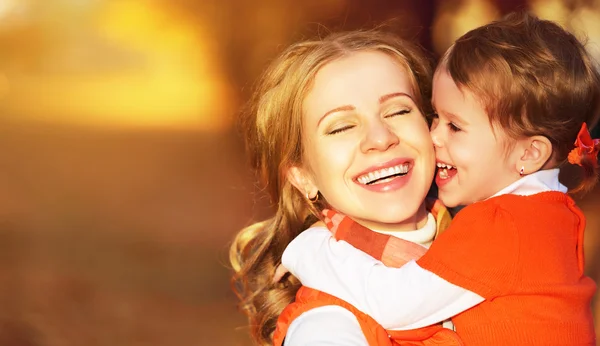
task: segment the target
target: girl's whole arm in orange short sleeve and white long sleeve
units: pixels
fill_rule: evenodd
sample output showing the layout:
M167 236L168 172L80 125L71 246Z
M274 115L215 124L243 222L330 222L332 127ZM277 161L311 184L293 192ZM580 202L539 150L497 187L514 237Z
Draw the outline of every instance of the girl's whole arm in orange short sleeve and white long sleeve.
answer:
M385 328L436 323L517 284L521 235L501 202L464 208L422 258L401 268L335 241L325 228L298 236L283 265L306 286L346 300Z

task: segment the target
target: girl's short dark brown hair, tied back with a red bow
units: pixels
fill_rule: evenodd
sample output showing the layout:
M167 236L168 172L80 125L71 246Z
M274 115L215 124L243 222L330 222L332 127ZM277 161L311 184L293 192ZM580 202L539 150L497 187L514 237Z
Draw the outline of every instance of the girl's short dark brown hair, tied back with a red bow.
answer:
M525 12L469 31L440 68L473 92L492 124L510 137L548 138L551 166L566 162L582 124L593 126L600 114L598 66L584 45L558 24ZM589 191L598 180L597 158L585 158L582 168L572 193Z

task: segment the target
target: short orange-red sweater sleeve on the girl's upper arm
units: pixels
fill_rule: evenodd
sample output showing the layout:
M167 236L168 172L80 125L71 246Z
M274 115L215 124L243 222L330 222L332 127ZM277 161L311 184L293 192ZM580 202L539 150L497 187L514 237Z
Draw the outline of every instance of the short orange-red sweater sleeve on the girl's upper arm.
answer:
M515 282L519 238L514 218L494 201L461 210L417 263L457 286L492 299Z

